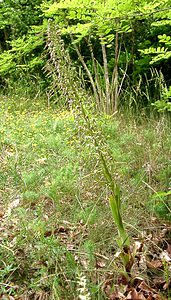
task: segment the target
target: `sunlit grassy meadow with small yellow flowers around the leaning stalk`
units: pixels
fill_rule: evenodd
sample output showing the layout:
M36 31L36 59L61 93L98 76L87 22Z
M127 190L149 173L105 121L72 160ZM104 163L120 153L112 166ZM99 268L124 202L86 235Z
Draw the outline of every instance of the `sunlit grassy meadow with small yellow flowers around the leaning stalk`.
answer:
M80 145L70 112L3 97L0 107L1 294L78 299L82 278L91 299L107 299L117 231L91 140ZM151 197L169 189L169 122L102 115L96 123L130 236L148 229L155 213L166 221Z

